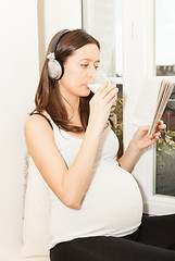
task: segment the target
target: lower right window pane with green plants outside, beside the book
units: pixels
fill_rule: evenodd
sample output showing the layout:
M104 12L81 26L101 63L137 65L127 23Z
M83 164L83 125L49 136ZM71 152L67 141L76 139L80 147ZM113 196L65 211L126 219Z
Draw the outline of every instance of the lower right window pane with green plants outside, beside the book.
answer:
M162 120L166 129L162 132L157 144L155 192L175 196L175 89Z

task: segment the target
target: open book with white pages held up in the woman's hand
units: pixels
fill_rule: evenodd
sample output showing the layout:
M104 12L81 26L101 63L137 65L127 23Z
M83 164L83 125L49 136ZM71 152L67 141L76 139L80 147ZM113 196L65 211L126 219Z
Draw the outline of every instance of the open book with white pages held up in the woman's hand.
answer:
M136 125L149 124L148 135L152 135L162 117L173 88L174 84L170 80L157 77L145 79L132 122Z

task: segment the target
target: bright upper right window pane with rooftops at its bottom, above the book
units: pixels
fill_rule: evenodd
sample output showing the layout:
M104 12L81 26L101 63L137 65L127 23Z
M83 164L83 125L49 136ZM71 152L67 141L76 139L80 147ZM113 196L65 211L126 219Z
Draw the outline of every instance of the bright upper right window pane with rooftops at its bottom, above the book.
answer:
M157 75L175 75L175 1L155 1Z

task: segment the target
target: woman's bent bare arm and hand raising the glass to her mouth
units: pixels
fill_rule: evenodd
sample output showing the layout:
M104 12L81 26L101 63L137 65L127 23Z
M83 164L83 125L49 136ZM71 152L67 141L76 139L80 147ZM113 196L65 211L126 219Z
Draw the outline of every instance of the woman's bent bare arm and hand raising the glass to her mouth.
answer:
M116 99L116 90L105 87L91 99L92 113L78 154L70 169L54 142L53 130L48 122L39 115L33 115L25 123L29 154L52 191L70 208L79 208L89 186L102 129Z

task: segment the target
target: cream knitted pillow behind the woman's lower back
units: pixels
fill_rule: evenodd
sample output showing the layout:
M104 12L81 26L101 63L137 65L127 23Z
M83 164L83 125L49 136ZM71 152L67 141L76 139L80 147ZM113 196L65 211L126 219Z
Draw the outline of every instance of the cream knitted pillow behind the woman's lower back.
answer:
M24 201L23 257L49 256L50 199L48 187L33 159L27 161L27 184Z

